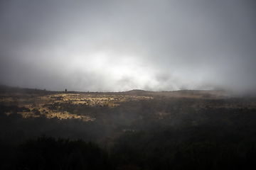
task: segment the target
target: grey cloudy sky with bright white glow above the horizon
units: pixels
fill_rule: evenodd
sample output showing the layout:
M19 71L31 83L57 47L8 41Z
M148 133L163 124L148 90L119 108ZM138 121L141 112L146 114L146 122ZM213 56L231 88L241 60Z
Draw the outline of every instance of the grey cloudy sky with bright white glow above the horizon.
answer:
M1 0L0 84L256 89L253 0Z

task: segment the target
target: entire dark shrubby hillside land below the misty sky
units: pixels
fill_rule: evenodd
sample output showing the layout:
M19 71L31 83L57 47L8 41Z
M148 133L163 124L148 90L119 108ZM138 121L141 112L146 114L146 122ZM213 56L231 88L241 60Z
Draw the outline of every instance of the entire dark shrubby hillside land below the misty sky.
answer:
M256 98L0 91L0 169L256 168Z

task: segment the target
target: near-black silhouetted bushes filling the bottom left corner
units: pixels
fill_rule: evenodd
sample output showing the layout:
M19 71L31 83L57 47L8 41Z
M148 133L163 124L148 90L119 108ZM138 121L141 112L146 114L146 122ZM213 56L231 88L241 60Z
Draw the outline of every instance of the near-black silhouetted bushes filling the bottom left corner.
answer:
M114 159L92 142L38 137L14 146L1 142L1 169L114 169Z

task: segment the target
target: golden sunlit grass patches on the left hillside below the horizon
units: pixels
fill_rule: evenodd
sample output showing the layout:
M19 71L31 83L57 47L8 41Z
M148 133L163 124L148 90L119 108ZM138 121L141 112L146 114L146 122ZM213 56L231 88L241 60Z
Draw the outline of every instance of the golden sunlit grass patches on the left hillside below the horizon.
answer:
M87 105L87 106L108 106L114 108L119 106L119 103L124 101L137 101L141 99L150 99L149 96L124 96L124 95L102 95L102 94L53 94L38 96L36 94L4 94L1 96L0 102L6 106L16 105L18 107L30 108L30 112L21 112L24 118L39 117L45 115L46 118L58 118L62 119L80 119L83 121L95 120L87 115L80 115L75 113L69 113L68 111L59 111L60 106L56 106L53 111L49 109L48 105L54 105L55 103L68 103L72 105ZM39 111L40 114L36 114L33 111ZM6 113L7 115L11 113Z

